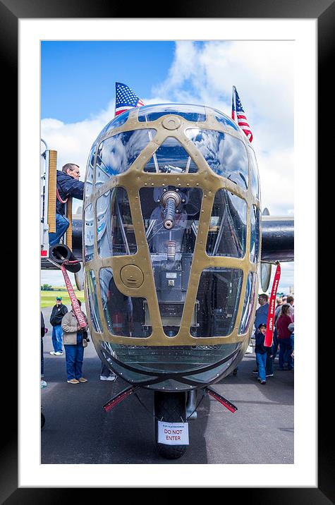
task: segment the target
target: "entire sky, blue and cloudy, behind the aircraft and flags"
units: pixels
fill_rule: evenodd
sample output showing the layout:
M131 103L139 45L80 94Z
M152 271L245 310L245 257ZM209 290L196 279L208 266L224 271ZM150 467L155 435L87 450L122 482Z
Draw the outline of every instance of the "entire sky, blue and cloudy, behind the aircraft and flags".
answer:
M235 85L254 136L262 208L293 215L293 71L292 41L44 41L42 138L57 150L58 168L75 162L83 179L92 142L114 117L116 81L145 104L204 104L229 116ZM59 272L42 272L42 281L53 279L63 284ZM288 286L293 263L282 264L279 291Z

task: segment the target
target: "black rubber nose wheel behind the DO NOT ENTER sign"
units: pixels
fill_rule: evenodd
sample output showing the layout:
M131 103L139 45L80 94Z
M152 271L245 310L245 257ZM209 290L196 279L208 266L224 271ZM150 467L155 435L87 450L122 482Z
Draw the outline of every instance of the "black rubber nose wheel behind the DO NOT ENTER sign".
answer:
M163 393L154 391L154 432L157 451L163 458L177 459L183 456L187 445L166 445L158 441L158 420L166 422L185 422L186 420L186 393Z

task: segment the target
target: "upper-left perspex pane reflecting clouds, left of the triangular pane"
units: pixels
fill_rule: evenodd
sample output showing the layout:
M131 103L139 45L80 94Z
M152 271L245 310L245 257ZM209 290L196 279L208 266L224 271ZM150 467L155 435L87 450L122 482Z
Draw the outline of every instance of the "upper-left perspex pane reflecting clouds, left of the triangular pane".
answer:
M140 152L154 138L156 130L133 130L106 138L97 152L96 180L108 180L126 172Z

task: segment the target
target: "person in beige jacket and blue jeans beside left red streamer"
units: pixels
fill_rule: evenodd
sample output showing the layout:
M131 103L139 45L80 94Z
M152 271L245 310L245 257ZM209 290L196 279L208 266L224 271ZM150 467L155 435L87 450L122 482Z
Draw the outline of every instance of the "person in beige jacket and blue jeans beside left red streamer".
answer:
M80 300L78 300L81 306ZM83 312L84 314L84 312ZM84 314L87 323L87 317ZM83 331L87 331L87 326L80 328L77 317L73 309L68 312L61 322L63 329L63 343L65 348L66 358L66 373L68 375L69 384L79 384L79 382L87 382L83 377L83 359L84 359L84 346L87 345L86 340L83 338Z

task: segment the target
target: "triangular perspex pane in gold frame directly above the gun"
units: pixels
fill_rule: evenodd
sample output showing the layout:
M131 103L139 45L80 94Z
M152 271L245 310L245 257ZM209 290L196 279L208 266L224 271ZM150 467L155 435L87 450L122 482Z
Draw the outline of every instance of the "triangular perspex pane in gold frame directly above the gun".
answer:
M145 165L145 172L194 174L197 166L176 138L168 137Z

